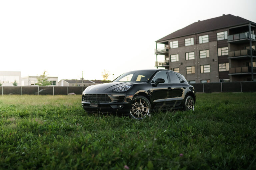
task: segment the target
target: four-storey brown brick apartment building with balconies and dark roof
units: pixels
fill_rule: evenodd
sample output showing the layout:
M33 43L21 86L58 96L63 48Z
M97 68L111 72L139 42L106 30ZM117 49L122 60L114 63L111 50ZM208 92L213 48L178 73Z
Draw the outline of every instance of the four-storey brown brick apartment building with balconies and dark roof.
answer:
M256 23L231 14L195 22L156 41L155 67L190 83L255 81L255 32Z

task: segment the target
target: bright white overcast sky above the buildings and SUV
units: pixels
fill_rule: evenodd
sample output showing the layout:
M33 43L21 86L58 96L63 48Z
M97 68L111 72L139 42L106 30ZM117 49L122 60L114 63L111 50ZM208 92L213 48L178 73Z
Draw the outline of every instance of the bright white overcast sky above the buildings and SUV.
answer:
M0 71L47 71L60 81L82 72L102 80L105 69L113 80L154 69L162 37L223 14L256 22L255 7L256 0L0 0Z

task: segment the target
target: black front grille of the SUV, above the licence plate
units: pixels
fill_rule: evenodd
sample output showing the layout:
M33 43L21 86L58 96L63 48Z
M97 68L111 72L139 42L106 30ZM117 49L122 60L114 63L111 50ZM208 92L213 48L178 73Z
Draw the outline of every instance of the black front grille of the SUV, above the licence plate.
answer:
M83 94L82 101L98 101L99 103L108 103L111 102L111 99L106 94Z

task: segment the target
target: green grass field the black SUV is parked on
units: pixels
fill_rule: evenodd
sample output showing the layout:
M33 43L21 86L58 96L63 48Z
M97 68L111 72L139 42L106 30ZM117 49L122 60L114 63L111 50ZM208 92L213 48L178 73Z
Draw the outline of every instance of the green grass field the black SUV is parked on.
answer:
M0 169L256 169L256 93L197 94L194 112L141 121L80 100L0 96Z

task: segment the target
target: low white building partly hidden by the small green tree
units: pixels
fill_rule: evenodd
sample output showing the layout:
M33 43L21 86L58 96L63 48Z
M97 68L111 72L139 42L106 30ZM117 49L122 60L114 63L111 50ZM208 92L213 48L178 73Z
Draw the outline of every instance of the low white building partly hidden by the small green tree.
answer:
M27 76L21 78L21 85L22 86L38 86L37 85L37 79L39 76ZM58 77L48 77L48 81L51 82L52 86L56 86L58 82Z

